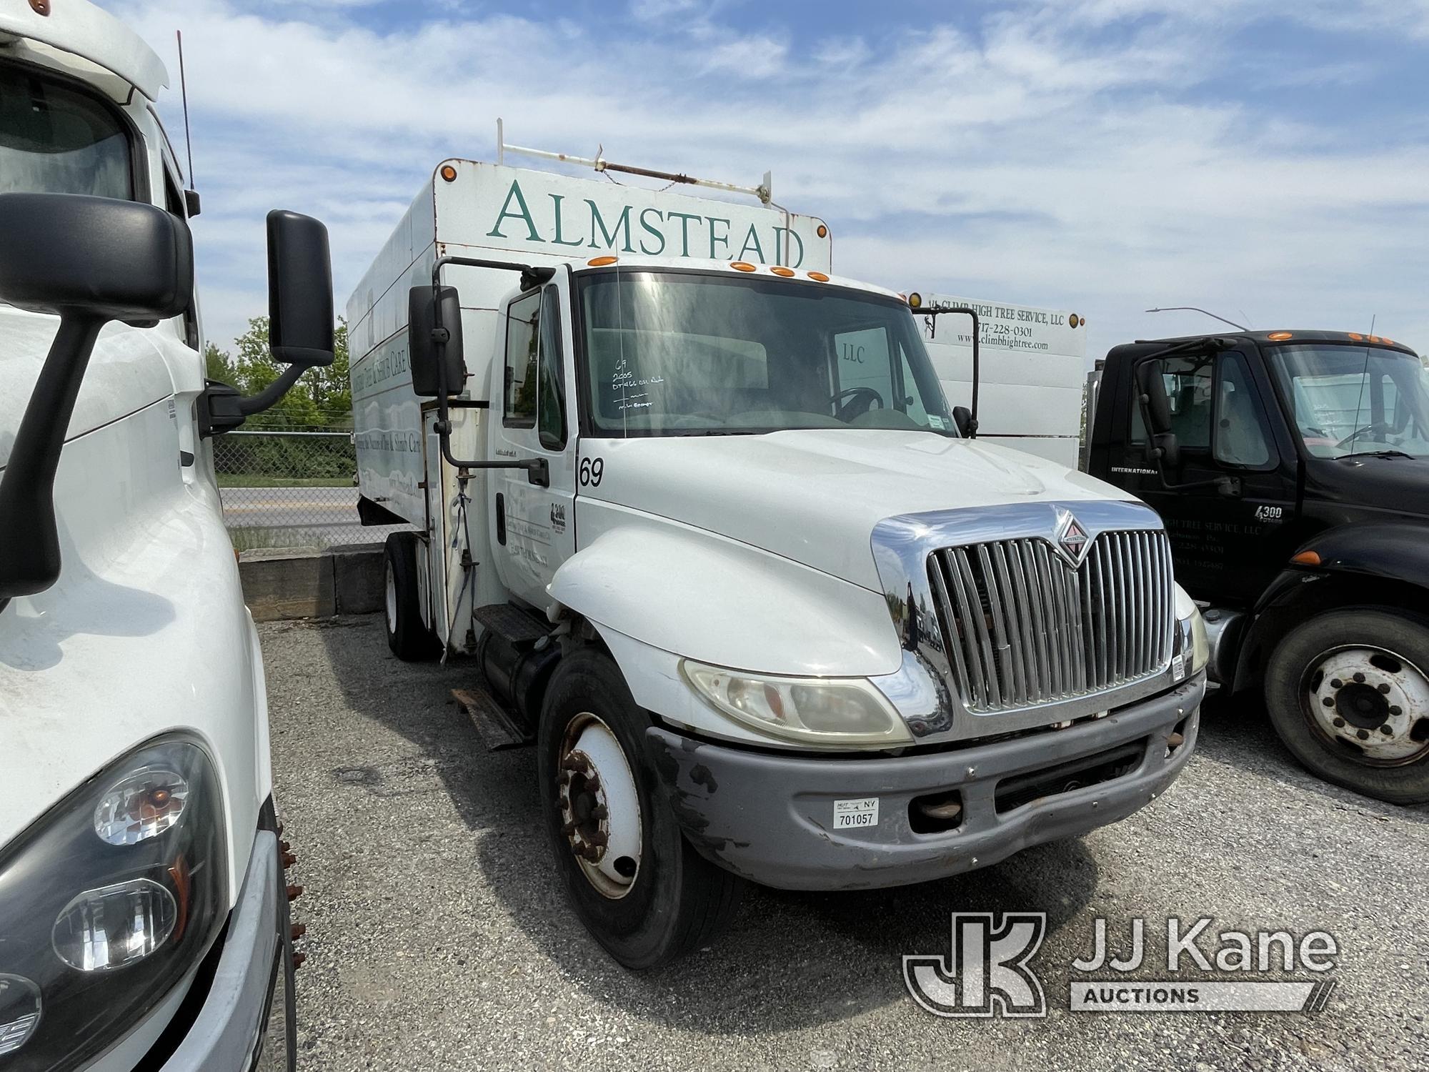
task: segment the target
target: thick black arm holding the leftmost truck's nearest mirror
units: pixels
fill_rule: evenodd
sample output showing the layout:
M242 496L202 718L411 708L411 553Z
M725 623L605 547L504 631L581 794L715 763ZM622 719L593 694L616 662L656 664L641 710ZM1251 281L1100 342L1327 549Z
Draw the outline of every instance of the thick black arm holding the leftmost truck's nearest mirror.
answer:
M44 592L60 577L54 473L84 369L104 319L66 313L24 407L10 460L0 473L0 610L14 596ZM23 522L21 522L23 519Z

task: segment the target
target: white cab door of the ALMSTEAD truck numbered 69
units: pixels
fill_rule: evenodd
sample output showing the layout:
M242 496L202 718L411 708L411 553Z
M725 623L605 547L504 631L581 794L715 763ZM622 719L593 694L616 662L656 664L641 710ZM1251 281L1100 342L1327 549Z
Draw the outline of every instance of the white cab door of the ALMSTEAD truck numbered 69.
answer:
M570 339L569 273L504 306L500 397L492 399L493 457L543 457L549 486L523 469L494 469L492 550L497 575L523 603L544 609L546 585L576 549L576 430L569 417L564 354Z

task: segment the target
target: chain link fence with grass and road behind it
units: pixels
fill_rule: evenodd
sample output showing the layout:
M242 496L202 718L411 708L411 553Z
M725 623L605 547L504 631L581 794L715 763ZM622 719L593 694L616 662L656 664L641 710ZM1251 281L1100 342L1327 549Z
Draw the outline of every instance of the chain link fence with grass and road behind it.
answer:
M374 543L409 527L367 527L357 517L352 432L240 429L214 437L213 465L239 550Z

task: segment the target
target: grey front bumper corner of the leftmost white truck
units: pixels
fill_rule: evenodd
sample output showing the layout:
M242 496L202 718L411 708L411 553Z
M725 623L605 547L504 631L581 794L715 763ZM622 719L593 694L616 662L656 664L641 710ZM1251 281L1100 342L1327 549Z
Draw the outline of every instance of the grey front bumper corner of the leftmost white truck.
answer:
M286 883L277 835L259 830L209 996L163 1072L286 1069ZM273 1025L272 1031L269 1025Z

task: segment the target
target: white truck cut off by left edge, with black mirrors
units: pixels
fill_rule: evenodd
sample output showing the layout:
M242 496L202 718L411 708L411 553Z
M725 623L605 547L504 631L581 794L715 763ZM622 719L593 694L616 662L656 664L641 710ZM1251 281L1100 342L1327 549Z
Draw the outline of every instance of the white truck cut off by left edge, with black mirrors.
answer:
M327 237L269 217L263 397L204 382L159 57L0 6L0 1068L296 1058L253 620L211 436L332 362Z

